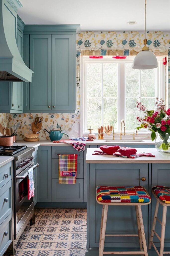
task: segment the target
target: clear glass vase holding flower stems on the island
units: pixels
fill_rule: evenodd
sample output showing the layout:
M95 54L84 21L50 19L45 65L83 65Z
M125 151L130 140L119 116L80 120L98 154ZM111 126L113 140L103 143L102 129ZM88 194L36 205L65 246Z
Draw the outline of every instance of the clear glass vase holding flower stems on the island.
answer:
M170 137L168 133L156 132L155 148L160 152L170 153Z

